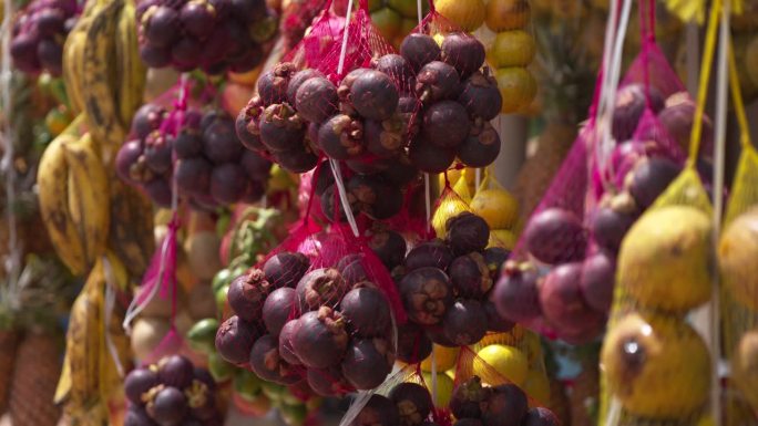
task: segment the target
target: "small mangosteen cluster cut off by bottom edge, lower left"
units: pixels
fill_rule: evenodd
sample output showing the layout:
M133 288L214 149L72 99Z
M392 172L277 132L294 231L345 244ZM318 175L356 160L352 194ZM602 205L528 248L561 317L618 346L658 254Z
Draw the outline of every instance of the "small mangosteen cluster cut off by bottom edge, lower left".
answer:
M133 370L124 382L124 426L218 426L216 382L181 355Z

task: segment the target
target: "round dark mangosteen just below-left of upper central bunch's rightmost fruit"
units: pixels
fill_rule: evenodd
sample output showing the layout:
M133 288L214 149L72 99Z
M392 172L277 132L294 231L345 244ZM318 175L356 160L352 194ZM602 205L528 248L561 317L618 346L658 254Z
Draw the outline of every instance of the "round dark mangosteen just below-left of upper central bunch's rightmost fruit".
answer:
M424 139L430 141L438 148L452 149L458 147L465 141L470 132L471 120L469 120L469 114L463 105L455 101L436 102L423 113L421 133Z

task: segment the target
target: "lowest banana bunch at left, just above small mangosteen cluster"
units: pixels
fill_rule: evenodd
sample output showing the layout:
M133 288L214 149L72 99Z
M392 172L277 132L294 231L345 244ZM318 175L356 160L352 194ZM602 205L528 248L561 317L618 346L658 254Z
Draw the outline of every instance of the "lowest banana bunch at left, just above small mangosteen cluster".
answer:
M125 289L127 280L113 253L101 256L71 309L55 403L64 404L72 425L109 425L109 403L123 398L131 352L121 328L124 312L116 308L113 292Z

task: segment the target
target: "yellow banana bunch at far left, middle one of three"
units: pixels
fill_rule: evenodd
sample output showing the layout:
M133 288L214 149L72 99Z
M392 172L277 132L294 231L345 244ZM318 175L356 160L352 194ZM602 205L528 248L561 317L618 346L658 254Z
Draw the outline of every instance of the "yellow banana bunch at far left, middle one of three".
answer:
M105 251L111 212L109 176L99 141L78 134L82 116L45 148L37 175L40 211L50 240L75 276Z

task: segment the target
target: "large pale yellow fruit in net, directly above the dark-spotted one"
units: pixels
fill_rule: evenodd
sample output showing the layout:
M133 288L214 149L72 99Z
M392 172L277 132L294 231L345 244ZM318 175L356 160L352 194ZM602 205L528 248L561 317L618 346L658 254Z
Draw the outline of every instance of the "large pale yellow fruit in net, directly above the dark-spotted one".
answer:
M642 305L684 313L710 299L711 220L689 206L662 207L637 220L618 253L618 284Z

